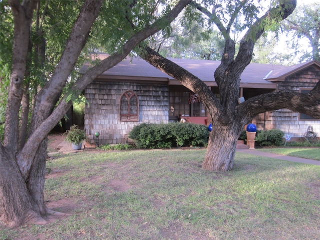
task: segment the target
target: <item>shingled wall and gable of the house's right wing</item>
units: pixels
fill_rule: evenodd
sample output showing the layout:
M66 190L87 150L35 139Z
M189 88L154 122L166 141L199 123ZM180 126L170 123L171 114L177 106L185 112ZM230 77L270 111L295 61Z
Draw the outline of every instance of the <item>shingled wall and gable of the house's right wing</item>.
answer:
M284 81L278 81L279 90L295 90L300 88L313 88L320 79L320 71L310 66L302 71L296 72L285 78ZM265 114L265 120L263 120ZM299 113L289 109L278 109L261 113L253 119L258 129L280 129L284 133L290 133L291 137L301 137L306 132L309 125L313 126L313 131L320 136L319 120L300 120Z

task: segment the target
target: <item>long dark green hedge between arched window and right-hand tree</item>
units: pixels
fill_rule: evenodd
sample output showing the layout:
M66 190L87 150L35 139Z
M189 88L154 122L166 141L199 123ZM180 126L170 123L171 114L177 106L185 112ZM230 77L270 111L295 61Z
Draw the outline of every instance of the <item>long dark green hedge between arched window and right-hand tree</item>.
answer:
M209 132L205 125L193 123L141 123L132 128L129 137L140 148L205 146Z

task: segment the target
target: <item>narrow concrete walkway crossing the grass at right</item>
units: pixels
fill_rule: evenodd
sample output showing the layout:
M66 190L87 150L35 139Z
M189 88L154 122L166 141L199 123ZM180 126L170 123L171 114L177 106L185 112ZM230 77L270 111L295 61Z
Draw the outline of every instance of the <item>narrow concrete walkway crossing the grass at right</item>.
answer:
M301 162L301 163L306 163L306 164L320 165L320 161L318 161L318 160L295 157L295 156L279 155L279 154L275 154L275 153L257 151L257 150L254 150L254 149L236 149L236 151L237 152L247 153L247 154L252 154L252 155L276 158L276 159L280 159L280 160L295 161L295 162Z

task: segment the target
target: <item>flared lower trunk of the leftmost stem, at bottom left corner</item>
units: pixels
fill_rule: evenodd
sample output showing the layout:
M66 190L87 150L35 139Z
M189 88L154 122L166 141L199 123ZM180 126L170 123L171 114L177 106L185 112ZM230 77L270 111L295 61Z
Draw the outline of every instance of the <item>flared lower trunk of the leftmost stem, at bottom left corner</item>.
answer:
M0 146L0 220L9 227L23 222L44 223L20 174L14 155Z

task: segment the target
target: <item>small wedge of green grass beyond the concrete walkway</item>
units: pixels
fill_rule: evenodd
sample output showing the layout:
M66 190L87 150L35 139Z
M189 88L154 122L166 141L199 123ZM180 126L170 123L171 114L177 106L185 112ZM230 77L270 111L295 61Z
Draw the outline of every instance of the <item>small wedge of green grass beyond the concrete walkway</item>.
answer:
M280 155L296 156L320 160L320 147L302 148L302 147L277 147L277 148L257 148L256 150L271 152Z

